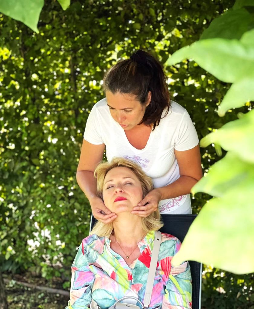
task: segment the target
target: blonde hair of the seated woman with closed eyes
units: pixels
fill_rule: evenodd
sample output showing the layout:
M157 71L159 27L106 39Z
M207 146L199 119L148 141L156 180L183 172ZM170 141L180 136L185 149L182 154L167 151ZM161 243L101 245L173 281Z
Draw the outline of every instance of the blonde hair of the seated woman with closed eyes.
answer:
M98 164L94 171L94 176L97 178L97 195L102 198L103 193L103 182L107 173L114 167L127 167L129 168L134 175L138 178L141 183L142 190L143 190L143 197L153 190L153 182L152 179L147 176L142 168L138 166L136 163L133 163L129 160L123 158L113 158L112 161L109 162L101 162ZM149 231L157 231L162 226L163 223L161 221L161 215L159 210L152 212L149 214L148 217L143 218L141 217L141 225L144 233L148 233ZM113 232L113 223L102 223L97 221L96 224L93 226L91 234L96 234L99 237L106 236L110 237Z

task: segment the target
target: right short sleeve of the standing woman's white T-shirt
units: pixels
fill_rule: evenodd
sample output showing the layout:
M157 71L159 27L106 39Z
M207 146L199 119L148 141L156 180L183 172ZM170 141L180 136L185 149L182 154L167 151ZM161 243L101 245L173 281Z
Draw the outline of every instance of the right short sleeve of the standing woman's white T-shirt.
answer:
M190 115L185 110L174 135L174 149L189 150L198 144L198 135Z

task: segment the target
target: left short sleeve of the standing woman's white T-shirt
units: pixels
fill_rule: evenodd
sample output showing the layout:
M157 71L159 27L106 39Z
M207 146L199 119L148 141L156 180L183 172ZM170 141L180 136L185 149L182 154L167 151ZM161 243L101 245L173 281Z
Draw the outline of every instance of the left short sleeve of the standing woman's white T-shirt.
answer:
M98 120L96 104L93 106L88 116L84 132L84 139L94 145L103 144L101 137L101 126Z

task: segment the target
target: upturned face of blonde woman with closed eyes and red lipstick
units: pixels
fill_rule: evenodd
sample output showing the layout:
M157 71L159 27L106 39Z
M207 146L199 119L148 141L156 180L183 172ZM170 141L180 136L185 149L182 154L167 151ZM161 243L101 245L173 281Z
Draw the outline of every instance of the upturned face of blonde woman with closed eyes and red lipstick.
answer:
M131 211L142 200L142 185L127 167L114 167L103 182L103 201L116 214Z

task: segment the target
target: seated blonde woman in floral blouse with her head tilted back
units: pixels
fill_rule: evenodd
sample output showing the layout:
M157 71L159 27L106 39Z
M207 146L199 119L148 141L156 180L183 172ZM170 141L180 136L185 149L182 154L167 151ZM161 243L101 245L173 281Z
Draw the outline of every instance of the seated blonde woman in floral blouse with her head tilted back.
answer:
M163 225L158 210L147 218L131 213L153 189L151 178L135 163L115 158L100 163L95 176L98 195L118 217L109 224L98 221L83 239L72 265L66 309L89 308L92 300L109 308L124 296L143 303L155 231ZM171 266L180 245L176 237L162 233L149 309L191 308L190 266Z

